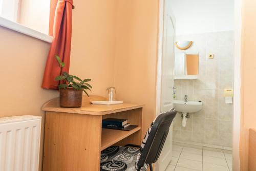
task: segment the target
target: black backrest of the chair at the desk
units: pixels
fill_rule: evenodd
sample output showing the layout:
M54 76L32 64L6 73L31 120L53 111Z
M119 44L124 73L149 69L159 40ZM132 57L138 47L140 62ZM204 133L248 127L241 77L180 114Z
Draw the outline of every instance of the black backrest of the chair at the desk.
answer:
M164 142L169 132L170 124L176 116L176 110L160 114L151 127L148 129L141 145L140 155L137 159L137 166L155 163L162 151Z

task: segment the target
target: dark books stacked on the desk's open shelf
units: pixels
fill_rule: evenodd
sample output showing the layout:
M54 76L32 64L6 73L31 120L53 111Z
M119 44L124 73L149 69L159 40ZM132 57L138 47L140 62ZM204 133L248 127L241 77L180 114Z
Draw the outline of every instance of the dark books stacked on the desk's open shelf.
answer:
M102 119L102 127L106 129L130 131L137 127L137 125L131 125L127 122L127 119L106 118Z

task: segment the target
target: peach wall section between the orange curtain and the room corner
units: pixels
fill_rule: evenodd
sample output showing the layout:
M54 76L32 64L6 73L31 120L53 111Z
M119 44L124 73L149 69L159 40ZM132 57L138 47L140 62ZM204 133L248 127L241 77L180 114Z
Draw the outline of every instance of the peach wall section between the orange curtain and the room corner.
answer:
M94 95L113 86L116 0L75 1L70 73L92 78Z

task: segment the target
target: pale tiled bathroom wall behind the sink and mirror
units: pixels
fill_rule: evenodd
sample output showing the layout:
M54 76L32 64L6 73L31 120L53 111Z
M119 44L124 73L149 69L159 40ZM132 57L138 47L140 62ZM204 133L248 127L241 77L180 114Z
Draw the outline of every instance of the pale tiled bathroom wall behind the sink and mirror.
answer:
M203 109L191 114L185 128L181 127L181 118L175 120L174 140L231 147L233 110L232 104L225 103L223 91L233 87L233 31L182 35L176 39L194 41L185 52L199 52L198 79L175 80L176 99L183 100L186 94L188 100L201 100ZM208 59L209 53L215 58Z

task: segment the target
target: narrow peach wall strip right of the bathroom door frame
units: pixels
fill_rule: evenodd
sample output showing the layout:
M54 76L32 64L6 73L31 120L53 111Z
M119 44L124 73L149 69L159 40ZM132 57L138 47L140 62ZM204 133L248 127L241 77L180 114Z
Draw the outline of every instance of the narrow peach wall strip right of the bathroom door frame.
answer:
M241 170L248 170L248 133L249 128L256 129L256 2L243 1L242 23L242 68L241 68ZM256 169L256 168L255 168Z

